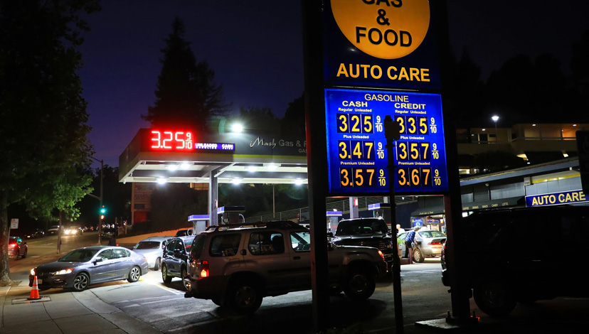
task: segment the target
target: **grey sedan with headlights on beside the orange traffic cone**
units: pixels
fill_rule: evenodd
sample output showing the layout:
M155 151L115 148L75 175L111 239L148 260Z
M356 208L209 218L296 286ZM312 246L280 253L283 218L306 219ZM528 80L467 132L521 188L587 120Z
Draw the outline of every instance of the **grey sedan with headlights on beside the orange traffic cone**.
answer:
M93 246L74 249L56 262L41 264L28 276L28 286L37 277L39 290L51 288L83 291L91 284L127 279L136 282L146 274L147 260L123 247Z

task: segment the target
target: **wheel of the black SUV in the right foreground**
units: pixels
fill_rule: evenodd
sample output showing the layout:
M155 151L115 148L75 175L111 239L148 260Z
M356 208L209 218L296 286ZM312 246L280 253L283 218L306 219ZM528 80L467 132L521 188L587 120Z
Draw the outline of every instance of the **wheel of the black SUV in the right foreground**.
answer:
M474 288L474 302L489 316L506 316L514 310L516 301L508 286L499 281L486 281Z

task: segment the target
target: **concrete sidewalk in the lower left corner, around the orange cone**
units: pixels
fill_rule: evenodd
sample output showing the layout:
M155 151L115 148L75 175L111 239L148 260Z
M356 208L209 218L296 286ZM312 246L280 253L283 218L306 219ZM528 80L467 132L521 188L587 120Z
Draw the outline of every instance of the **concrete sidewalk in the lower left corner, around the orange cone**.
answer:
M0 332L161 333L101 301L92 290L52 293L53 290L43 291L41 301L35 302L26 300L31 296L28 277L18 286L0 287Z

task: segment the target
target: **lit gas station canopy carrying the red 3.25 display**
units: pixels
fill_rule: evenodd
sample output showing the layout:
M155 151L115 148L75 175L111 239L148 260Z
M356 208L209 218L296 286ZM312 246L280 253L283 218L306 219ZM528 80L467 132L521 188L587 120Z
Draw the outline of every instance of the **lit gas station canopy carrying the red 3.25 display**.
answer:
M122 183L307 183L305 139L139 129L119 157Z

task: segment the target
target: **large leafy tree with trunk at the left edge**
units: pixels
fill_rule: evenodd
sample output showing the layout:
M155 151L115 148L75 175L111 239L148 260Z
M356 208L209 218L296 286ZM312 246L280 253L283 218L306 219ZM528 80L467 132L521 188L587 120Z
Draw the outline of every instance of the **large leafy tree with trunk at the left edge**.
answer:
M0 284L10 281L10 203L31 217L74 219L87 192L92 146L76 71L94 0L0 0Z

